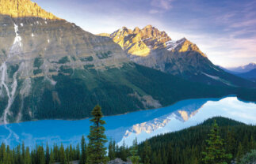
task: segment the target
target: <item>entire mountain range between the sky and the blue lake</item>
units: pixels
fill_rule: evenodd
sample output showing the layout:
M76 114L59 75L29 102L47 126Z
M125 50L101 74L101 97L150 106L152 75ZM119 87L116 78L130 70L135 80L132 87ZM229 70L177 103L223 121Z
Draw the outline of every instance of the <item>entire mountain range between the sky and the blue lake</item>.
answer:
M217 68L187 39L151 26L109 37L30 0L0 0L1 123L90 117L96 104L111 115L229 94L256 100L253 82Z

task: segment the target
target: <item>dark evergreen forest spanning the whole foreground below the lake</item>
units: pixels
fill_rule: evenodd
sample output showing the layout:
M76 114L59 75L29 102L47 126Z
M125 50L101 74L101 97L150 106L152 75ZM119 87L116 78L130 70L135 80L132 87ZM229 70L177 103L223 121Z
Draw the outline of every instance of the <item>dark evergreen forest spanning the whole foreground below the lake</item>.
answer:
M99 108L94 114L97 117L101 113ZM101 116L100 116L101 117ZM101 119L99 119L101 120ZM97 121L93 118L92 122ZM216 134L212 137L212 124L216 121L220 127L217 127ZM100 121L101 122L101 121ZM104 125L105 122L101 122ZM25 147L24 143L13 149L2 143L0 147L0 164L52 164L55 162L68 164L71 161L78 161L80 164L107 162L115 158L121 158L124 161L131 160L132 163L145 164L197 164L205 162L207 156L211 155L208 147L216 146L219 143L219 149L223 155L230 156L226 162L244 162L247 158L256 158L255 151L250 155L246 155L253 149L256 149L256 126L245 125L243 123L233 121L224 117L214 117L204 121L201 125L184 129L179 132L171 132L165 135L155 136L143 143L135 142L132 147L128 147L125 143L118 146L113 140L109 142L109 153L106 154L105 135L103 126L97 126L94 122L94 128L88 136L89 142L82 136L81 143L63 147L54 145L53 147L36 146L30 150ZM97 127L101 129L97 133ZM101 140L97 140L97 136L103 135ZM210 135L208 135L210 134ZM210 140L209 138L215 138ZM220 136L220 137L219 137ZM217 142L216 142L217 141ZM100 147L96 148L95 147ZM216 152L218 150L216 149ZM246 158L243 156L246 155ZM214 155L213 155L214 156ZM216 156L216 155L215 155ZM243 158L243 160L241 160ZM101 161L95 162L97 159ZM213 162L215 163L215 162Z

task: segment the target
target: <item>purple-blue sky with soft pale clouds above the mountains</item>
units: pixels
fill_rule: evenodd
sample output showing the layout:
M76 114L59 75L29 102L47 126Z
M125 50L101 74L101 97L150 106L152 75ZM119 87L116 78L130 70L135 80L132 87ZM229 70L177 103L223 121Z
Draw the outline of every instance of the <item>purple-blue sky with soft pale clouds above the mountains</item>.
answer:
M112 33L151 24L185 37L216 65L256 63L255 0L33 0L87 32Z

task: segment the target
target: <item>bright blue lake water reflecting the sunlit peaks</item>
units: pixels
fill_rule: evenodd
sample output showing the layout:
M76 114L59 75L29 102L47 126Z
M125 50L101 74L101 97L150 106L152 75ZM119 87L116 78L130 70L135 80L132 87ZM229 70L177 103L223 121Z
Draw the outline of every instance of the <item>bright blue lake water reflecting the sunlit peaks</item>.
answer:
M215 117L229 117L246 124L256 125L256 104L243 102L235 96L222 99L189 99L155 110L142 110L130 114L104 117L108 139L128 145L166 132L174 132L197 125ZM0 142L14 147L53 143L75 145L82 135L88 135L89 119L78 121L44 120L0 125Z

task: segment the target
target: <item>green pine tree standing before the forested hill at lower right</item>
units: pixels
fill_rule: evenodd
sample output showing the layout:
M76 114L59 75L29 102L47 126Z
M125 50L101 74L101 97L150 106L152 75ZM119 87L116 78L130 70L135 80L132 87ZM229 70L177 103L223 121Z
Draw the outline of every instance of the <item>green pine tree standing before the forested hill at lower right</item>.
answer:
M227 155L224 149L224 140L219 136L219 126L216 121L212 125L211 133L208 134L209 140L206 140L208 147L206 152L203 152L204 158L202 161L205 164L226 164L227 160L232 158L232 155Z

